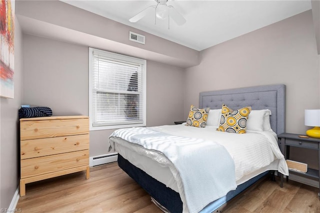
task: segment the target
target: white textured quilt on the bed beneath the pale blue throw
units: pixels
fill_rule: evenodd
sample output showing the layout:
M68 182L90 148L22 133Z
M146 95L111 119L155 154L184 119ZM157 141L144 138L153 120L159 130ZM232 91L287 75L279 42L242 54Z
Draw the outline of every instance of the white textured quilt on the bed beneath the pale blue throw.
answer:
M234 160L236 180L246 174L257 171L275 159L279 159L278 171L288 175L287 165L277 145L276 134L272 131L234 134L216 131L216 127L213 126L196 128L192 126L184 126L183 124L163 125L150 128L177 136L201 138L205 141L215 141L223 145ZM135 150L141 149L145 155L156 155L154 157L157 157L159 162L164 166L165 164L170 163L170 161L166 157L163 157L159 152L150 151L136 145L125 144L125 146L133 146L133 149ZM177 182L181 182L181 178L177 171L173 170L172 174ZM180 192L181 191L179 191L179 193ZM183 203L183 209L187 209L185 203Z

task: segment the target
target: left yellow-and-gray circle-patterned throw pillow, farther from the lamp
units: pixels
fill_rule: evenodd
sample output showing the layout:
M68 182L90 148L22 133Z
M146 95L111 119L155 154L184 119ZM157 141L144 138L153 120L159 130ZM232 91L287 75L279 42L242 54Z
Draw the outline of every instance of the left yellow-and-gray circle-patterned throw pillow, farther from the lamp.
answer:
M208 118L208 112L210 108L196 108L194 105L190 106L188 118L186 124L195 127L205 127L206 119Z

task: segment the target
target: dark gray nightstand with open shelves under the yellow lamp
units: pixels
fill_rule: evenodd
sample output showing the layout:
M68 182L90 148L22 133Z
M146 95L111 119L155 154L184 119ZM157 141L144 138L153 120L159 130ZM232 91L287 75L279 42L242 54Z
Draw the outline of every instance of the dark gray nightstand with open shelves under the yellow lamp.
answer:
M320 138L303 138L299 137L299 134L292 134L292 133L281 133L278 136L278 143L281 149L282 154L284 155L285 159L290 159L290 146L295 146L299 148L308 148L308 149L315 149L318 150L318 166L320 168L320 149L319 143ZM299 175L308 179L313 179L319 181L320 171L312 168L308 168L307 172L298 172L289 170L289 174ZM286 177L288 180L288 176ZM320 181L319 181L320 183ZM280 186L282 187L283 184L283 174L281 174L281 183ZM319 189L320 194L320 189Z

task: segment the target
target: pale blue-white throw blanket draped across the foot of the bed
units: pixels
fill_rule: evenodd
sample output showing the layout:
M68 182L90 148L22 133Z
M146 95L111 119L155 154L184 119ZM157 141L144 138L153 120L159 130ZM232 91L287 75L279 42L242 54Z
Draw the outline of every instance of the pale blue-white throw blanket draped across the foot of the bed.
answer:
M212 140L181 137L147 127L115 130L110 137L119 137L148 150L149 156L162 162L164 154L176 178L183 211L199 212L204 206L236 188L234 162L224 146ZM112 140L110 140L111 146ZM144 153L139 149L138 153Z

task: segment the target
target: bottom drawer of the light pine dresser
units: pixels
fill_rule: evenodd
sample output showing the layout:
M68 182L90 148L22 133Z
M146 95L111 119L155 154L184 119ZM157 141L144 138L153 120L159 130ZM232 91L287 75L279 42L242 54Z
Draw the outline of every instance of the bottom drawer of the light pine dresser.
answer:
M22 159L21 178L88 165L89 150Z

